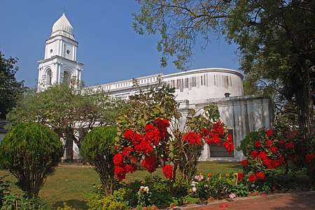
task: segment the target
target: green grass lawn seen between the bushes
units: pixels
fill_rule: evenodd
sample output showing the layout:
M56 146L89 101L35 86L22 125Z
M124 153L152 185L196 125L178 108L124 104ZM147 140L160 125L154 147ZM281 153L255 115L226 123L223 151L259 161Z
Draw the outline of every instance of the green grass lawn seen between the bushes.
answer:
M198 164L198 173L206 175L209 173L226 174L228 172L241 171L240 163L232 162L200 162ZM1 174L8 172L0 171ZM128 180L144 179L149 173L146 171L137 171L134 174L127 174ZM154 174L163 177L162 170L158 169ZM7 177L7 180L16 181L14 177ZM92 183L99 184L99 177L92 167L88 166L70 166L64 165L56 167L52 176L48 177L45 185L41 189L40 197L53 207L63 207L66 202L69 206L76 209L87 209L85 206L86 199L92 193ZM12 183L10 185L13 193L21 191Z

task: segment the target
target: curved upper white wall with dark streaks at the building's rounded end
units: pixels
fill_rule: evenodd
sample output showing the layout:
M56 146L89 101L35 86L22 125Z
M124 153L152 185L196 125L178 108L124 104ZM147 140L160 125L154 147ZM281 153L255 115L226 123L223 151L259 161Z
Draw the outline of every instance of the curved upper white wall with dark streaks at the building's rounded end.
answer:
M162 76L164 82L175 88L176 100L200 102L209 98L243 96L243 76L228 68L202 68Z

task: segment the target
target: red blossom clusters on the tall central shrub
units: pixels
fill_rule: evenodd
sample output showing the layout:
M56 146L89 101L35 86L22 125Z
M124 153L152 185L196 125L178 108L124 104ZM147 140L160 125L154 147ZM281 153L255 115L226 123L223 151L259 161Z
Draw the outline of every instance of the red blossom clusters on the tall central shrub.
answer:
M195 119L192 117L190 120L195 122L198 117L200 115L195 117ZM144 133L131 129L125 130L125 133L123 133L125 140L120 141L123 144L116 145L118 153L113 157L117 179L122 181L127 173L137 170L137 163L141 163L150 173L155 172L158 165L161 165L165 177L173 180L176 169L181 162L186 160L186 165L189 165L188 160L190 158L193 158L195 162L199 158L199 156L187 156L188 150L186 149L188 146L202 148L204 142L207 144L215 142L219 145L221 140L225 140L223 145L231 152L234 146L231 143L232 137L228 135L226 126L221 121L209 123L209 125L213 128L202 128L202 132L199 133L197 127L194 129L188 123L188 128L191 131L181 133L176 130L179 132L180 138L170 135L168 128L171 125L167 119L159 118L155 120L155 123L147 124L144 126ZM186 159L181 159L183 156L186 156ZM185 167L186 165L183 166Z

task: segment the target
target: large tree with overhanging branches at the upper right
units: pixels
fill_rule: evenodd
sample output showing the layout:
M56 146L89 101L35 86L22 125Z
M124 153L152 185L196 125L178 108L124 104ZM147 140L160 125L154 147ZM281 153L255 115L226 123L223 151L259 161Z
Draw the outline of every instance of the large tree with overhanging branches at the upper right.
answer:
M134 14L134 29L140 34L161 34L162 66L169 56L176 56L175 65L185 69L199 36L207 47L211 34L223 35L239 45L246 76L296 103L300 128L308 136L314 134L314 1L138 2L141 10Z

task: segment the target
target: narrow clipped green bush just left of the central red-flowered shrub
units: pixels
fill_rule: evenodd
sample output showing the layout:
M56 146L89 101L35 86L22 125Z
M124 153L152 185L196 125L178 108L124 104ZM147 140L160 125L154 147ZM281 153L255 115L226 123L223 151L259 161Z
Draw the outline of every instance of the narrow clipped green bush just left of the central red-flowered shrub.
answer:
M113 193L116 184L113 156L115 149L115 126L94 128L87 133L81 147L81 154L94 170L99 174L106 195Z

